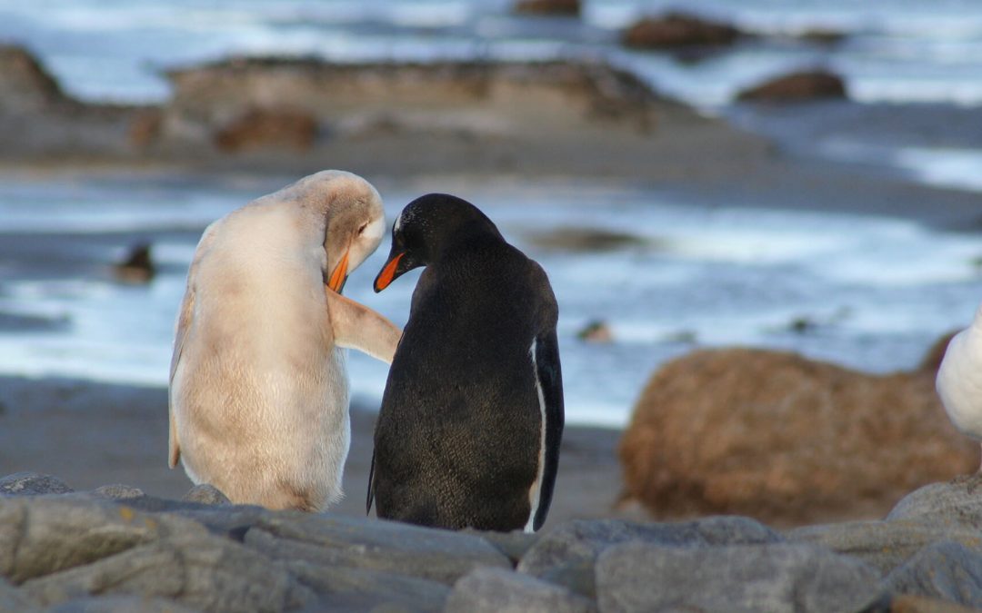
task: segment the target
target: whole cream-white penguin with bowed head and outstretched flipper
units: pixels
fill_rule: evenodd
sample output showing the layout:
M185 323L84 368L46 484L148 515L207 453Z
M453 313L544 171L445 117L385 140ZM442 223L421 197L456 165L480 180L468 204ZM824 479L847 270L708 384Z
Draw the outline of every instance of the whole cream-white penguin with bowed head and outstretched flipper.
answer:
M344 347L392 362L401 332L341 295L378 247L382 200L324 171L208 227L178 314L170 466L233 502L318 511L351 441Z

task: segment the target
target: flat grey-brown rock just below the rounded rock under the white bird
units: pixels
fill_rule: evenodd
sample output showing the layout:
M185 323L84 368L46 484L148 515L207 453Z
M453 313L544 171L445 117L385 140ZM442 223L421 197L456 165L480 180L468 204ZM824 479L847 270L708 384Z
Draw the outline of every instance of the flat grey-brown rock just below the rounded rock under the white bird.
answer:
M930 525L921 521L844 522L806 526L785 533L789 540L826 546L866 562L884 576L927 545L953 540L982 552L982 535L975 531Z

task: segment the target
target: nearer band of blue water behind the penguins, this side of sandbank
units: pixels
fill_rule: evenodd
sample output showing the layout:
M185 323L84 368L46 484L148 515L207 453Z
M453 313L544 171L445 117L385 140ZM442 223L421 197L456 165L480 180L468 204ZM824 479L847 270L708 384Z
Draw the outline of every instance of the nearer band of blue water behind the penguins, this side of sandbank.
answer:
M166 384L201 230L284 182L5 181L0 373ZM382 191L390 220L417 195L398 184ZM695 347L789 349L871 372L912 368L937 336L970 321L979 299L977 238L912 222L727 209L595 185L454 191L548 272L574 424L623 426L650 374ZM569 229L634 240L600 252L543 240ZM152 242L160 273L146 285L115 281L111 264L140 240ZM345 291L403 325L417 274L375 294L387 252L386 242ZM610 326L612 342L577 337L594 320ZM349 364L355 398L377 403L387 367L355 351Z

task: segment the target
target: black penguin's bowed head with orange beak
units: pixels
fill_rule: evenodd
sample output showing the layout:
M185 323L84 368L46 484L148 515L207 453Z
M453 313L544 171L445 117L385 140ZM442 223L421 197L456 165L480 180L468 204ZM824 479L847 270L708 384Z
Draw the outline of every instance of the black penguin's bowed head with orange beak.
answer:
M474 234L501 234L477 207L445 193L419 196L403 209L392 226L392 250L375 278L382 291L401 275L436 261L451 244Z

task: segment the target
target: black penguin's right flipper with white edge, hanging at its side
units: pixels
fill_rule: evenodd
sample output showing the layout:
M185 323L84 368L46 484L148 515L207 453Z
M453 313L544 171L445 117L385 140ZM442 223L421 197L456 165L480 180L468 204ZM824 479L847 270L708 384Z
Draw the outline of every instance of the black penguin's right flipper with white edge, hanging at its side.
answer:
M542 470L539 506L532 519L532 529L537 531L542 528L546 515L549 514L556 473L559 470L560 441L563 439L563 373L555 328L535 338L535 377L542 390L546 414L545 466Z

